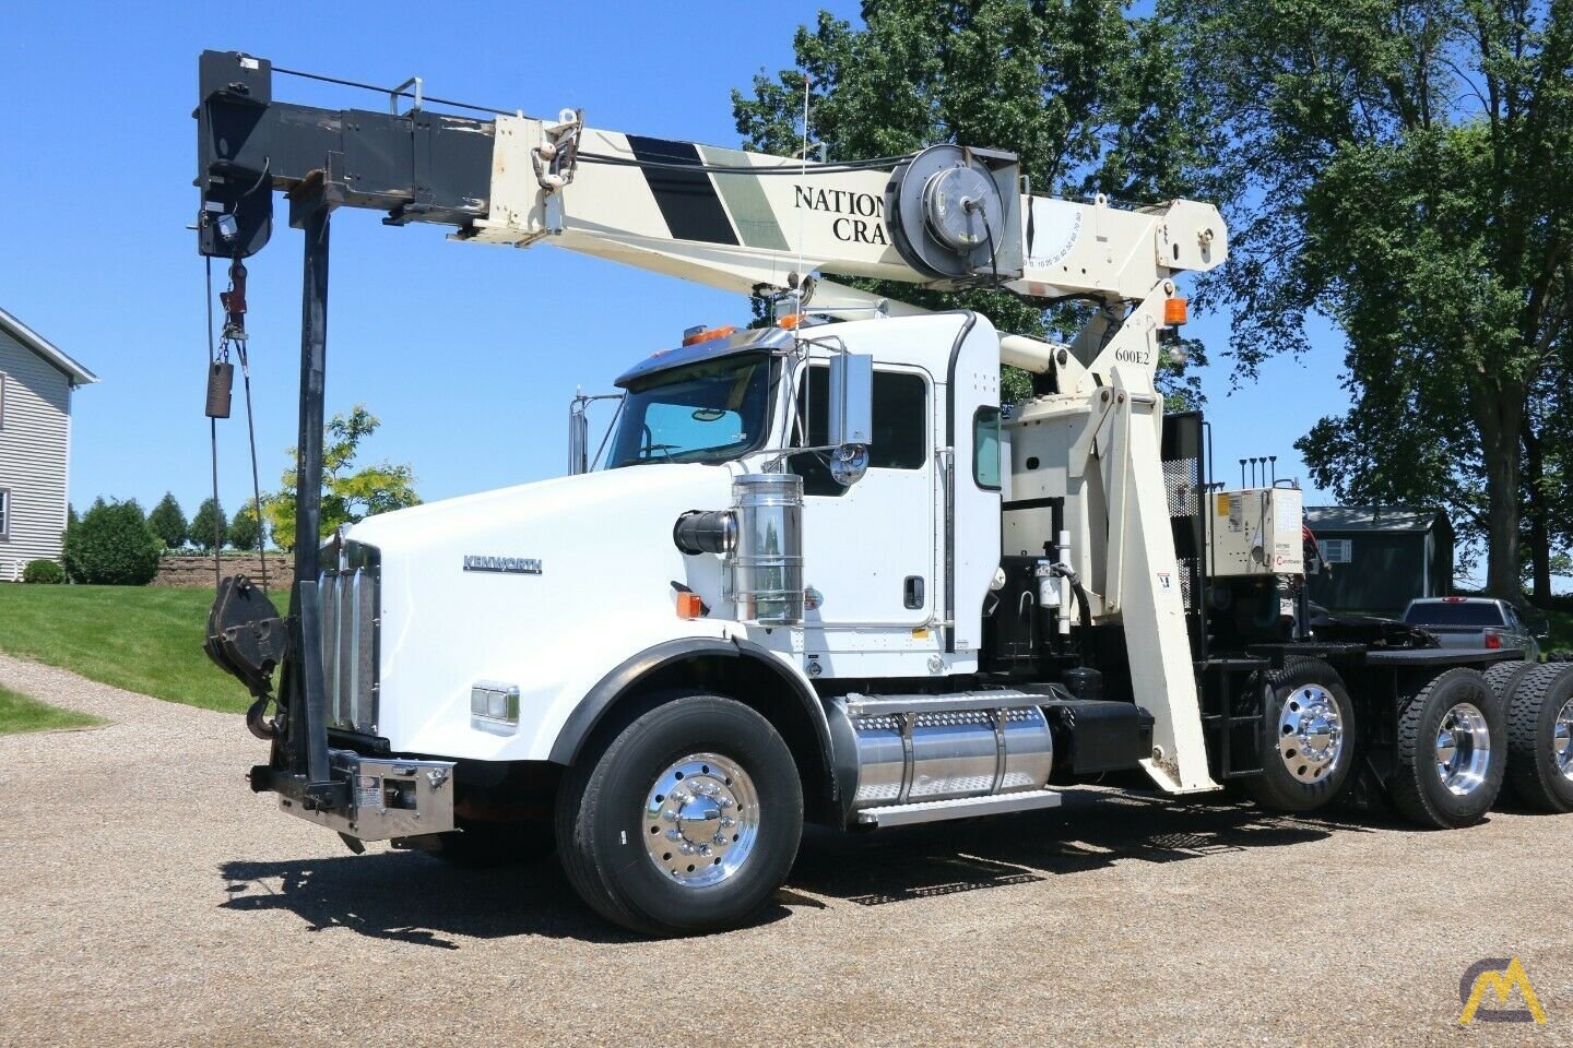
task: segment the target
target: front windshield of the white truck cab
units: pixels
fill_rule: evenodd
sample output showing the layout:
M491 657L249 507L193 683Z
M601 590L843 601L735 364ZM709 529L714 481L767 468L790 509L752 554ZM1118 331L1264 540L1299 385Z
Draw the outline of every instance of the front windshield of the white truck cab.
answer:
M654 376L628 393L609 468L725 462L764 442L771 358L728 357Z

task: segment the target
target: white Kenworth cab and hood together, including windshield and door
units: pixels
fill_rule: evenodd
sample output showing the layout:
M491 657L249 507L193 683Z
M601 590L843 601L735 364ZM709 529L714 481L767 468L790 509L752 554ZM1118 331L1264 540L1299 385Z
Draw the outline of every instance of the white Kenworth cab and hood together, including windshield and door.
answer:
M826 448L840 354L871 361L856 482ZM352 687L378 705L332 727L396 753L546 762L582 742L584 698L620 665L687 643L746 643L804 691L975 672L999 562L996 355L986 319L938 314L749 330L640 361L617 380L606 468L373 517L330 544L332 592L362 562L378 575L374 638L348 595L326 605L330 707L362 701ZM673 529L771 475L801 479L804 595L798 616L750 621L724 558L681 551ZM683 594L702 611L680 614ZM335 672L373 657L374 680ZM510 696L513 723L472 715L481 683Z

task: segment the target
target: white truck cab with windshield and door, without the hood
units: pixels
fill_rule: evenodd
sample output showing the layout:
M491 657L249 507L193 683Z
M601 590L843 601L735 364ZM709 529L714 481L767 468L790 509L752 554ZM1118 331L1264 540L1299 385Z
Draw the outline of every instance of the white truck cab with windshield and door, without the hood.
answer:
M812 677L974 672L999 561L997 346L971 313L692 341L617 380L628 398L607 468L711 460L802 478L809 606L769 646ZM840 354L871 363L856 482L837 479L829 445ZM717 572L684 567L708 606L725 606Z

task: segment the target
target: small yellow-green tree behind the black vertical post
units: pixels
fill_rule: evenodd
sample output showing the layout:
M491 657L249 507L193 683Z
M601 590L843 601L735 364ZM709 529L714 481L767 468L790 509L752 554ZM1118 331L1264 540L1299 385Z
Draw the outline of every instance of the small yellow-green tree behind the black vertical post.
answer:
M322 445L322 534L326 539L344 523L363 520L373 514L418 506L415 471L406 462L395 465L379 462L360 470L355 456L360 442L378 431L381 420L357 404L349 415L333 415L324 429ZM296 547L296 464L299 454L289 449L291 465L283 475L283 487L263 501L274 544L282 550Z

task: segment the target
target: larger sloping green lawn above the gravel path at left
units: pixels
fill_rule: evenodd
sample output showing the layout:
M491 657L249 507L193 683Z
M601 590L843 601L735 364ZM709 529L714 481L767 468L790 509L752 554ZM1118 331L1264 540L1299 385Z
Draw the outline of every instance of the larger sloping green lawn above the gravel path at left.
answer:
M201 650L209 589L0 584L0 652L209 710L244 712Z

